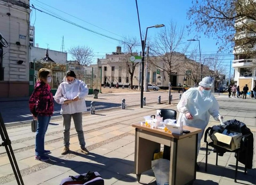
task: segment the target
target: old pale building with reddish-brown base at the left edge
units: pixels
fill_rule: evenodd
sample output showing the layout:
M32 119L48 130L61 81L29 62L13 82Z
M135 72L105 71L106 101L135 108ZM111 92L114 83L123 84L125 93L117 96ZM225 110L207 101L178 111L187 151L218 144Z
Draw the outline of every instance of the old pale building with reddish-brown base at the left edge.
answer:
M9 45L3 48L0 97L28 96L30 12L29 0L0 0L0 32Z

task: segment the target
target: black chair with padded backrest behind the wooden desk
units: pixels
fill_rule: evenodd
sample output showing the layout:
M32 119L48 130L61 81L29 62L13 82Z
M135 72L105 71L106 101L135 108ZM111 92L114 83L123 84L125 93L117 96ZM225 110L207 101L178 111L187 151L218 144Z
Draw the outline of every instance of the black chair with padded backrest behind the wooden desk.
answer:
M172 109L158 109L161 111L160 116L163 117L164 119L176 119L177 117L177 112L175 110ZM164 145L164 154L163 154L163 158L164 159L171 159L171 147Z

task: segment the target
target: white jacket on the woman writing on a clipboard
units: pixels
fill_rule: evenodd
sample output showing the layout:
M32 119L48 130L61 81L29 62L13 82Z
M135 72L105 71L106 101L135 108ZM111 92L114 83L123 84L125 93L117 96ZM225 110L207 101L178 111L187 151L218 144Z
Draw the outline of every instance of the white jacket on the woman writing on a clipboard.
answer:
M60 114L74 114L78 112L85 112L86 104L84 98L88 95L89 89L87 85L81 80L74 80L71 84L64 78L60 84L54 99L58 104L61 104ZM69 104L63 104L64 100L73 99L78 96L78 101L73 101Z

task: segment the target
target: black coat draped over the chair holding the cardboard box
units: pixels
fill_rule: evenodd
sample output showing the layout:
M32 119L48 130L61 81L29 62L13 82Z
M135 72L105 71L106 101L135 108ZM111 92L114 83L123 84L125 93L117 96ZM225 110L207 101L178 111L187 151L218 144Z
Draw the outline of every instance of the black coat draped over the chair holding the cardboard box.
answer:
M244 146L245 147L244 150L239 153L238 161L245 165L245 161L246 161L245 159L247 158L246 168L252 169L253 135L252 135L251 130L248 127L246 127L246 125L243 122L240 122L236 119L224 121L223 123L225 124L224 126L221 126L221 125L213 126L212 131L210 132L210 135L211 135L211 133L213 133L213 131L217 131L217 130L221 130L221 129L225 129L225 128L228 130L232 130L234 132L239 132L239 133L242 133L242 135L243 135L242 139L241 139L241 146L243 146L245 135L249 134L249 136L247 137L248 141L246 142L246 145ZM248 148L248 153L246 155L247 148ZM225 153L226 149L223 149L223 152L220 150L218 150L218 151L219 151L219 153ZM235 157L237 157L237 156L235 155Z

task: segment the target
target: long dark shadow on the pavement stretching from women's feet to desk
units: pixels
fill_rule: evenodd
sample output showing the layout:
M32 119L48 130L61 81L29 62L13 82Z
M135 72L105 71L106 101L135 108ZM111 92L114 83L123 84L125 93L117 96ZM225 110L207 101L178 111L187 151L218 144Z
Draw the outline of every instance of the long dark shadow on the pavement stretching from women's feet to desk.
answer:
M63 170L64 168L65 171L69 171L70 169L78 174L87 173L88 171L99 172L105 180L115 178L126 182L137 181L136 175L134 174L133 161L121 158L108 158L96 153L85 155L75 151L70 151L69 154L74 155L74 157L65 160L50 156L51 160L46 162L54 166L61 167L60 170ZM81 158L76 158L76 156L83 157L84 161L81 161Z

